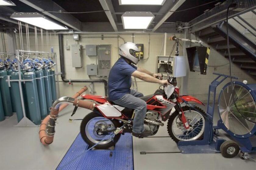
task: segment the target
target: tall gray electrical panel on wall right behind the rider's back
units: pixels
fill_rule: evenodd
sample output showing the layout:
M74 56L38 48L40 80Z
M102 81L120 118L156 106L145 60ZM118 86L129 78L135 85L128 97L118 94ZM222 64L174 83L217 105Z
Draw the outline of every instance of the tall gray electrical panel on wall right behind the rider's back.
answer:
M98 45L98 76L108 76L111 68L111 45Z

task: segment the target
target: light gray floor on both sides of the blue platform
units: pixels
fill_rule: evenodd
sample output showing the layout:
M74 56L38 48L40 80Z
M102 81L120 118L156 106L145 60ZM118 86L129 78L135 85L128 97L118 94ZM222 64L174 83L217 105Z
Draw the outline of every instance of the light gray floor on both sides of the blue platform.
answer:
M205 107L202 107L206 110ZM80 121L69 122L73 107L60 113L54 142L43 146L39 127L13 127L16 115L0 122L0 169L55 169L79 133ZM217 110L216 110L217 111ZM72 119L83 118L90 111L78 109ZM217 112L216 112L217 113ZM215 122L219 119L215 114ZM221 132L220 132L221 133ZM168 136L165 126L155 136ZM146 154L146 152L179 151L171 138L133 138L134 169L255 169L256 162L239 157L227 159L221 154ZM256 158L256 154L251 154Z

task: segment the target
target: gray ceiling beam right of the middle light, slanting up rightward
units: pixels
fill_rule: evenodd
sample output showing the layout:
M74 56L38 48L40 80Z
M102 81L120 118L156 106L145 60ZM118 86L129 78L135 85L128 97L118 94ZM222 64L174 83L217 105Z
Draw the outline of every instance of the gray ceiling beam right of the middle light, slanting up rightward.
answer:
M162 19L160 19L159 22L155 25L155 27L152 29L152 32L157 30L166 21L166 19L168 19L173 14L173 12L170 12L170 11L176 11L180 7L180 5L182 5L185 1L186 0L178 0L178 1L176 1L176 3L173 4L172 7L165 13L165 15L162 17ZM171 1L169 1L169 3L170 2ZM162 8L165 8L165 4L163 5ZM161 9L159 10L159 12L160 11L161 11Z

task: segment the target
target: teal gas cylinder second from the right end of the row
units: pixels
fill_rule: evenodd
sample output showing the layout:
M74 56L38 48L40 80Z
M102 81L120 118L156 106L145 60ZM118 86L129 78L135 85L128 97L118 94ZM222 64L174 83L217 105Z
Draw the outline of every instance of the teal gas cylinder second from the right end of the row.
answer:
M46 104L47 104L47 111L50 114L49 108L52 107L52 86L51 86L51 79L50 79L50 70L44 69L44 86L45 86L45 96L46 96Z

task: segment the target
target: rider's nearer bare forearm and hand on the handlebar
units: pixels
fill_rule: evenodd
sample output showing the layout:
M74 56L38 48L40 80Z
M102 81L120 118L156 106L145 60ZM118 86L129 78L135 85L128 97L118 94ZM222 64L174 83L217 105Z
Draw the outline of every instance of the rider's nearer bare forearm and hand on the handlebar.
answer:
M140 72L140 71L138 71L138 70L134 71L134 72L132 73L132 76L133 76L133 77L136 77L136 78L138 78L138 79L140 79L140 80L144 80L144 81L146 81L146 82L150 82L150 83L159 83L159 84L162 84L162 85L164 85L164 86L167 86L167 85L168 85L168 81L167 81L167 80L159 80L159 79L157 79L157 78L155 78L155 77L152 77L152 76L150 76L150 75L148 75L148 74L146 74L146 73Z

